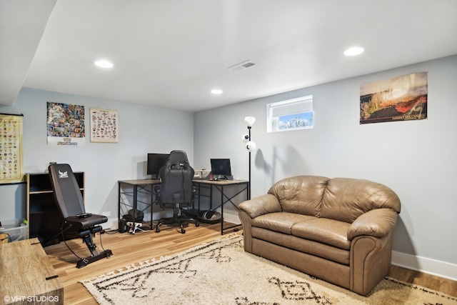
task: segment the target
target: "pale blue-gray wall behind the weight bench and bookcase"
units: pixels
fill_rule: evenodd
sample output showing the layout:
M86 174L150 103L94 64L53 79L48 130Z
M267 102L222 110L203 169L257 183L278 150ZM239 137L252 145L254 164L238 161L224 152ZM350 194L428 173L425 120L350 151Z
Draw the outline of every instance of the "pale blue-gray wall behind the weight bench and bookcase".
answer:
M47 101L84 105L88 129L90 108L118 111L119 143L91 143L88 132L84 147L48 146ZM14 105L0 106L0 113L24 114L26 173L43 173L52 161L85 171L86 209L109 212L110 219L117 219L117 181L145 179L147 153L182 149L189 161L194 158L194 114L186 111L23 88ZM25 192L24 184L0 185L1 219L24 218Z

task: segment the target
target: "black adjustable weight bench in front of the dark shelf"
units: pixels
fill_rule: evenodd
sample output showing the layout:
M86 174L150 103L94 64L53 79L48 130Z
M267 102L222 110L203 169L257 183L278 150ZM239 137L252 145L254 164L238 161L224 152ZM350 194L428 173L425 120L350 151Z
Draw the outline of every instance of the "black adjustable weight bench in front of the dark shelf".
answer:
M54 191L54 199L62 216L60 227L62 239L65 241L64 226L66 226L65 229L73 227L84 243L86 243L89 251L91 251L91 256L82 259L69 247L70 251L79 258L76 267L82 268L94 261L98 261L104 257L109 258L113 255L111 250L96 251L96 244L92 239L92 235L103 229L99 224L108 221L108 218L103 215L86 213L81 190L69 164L50 164L49 177L51 178L51 186Z

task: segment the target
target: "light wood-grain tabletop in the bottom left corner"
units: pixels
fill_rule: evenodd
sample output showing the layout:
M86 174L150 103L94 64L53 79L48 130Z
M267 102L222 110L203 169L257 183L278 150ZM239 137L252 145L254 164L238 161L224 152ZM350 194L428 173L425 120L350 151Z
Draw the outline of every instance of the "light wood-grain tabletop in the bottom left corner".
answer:
M0 244L0 304L64 304L64 286L39 239Z

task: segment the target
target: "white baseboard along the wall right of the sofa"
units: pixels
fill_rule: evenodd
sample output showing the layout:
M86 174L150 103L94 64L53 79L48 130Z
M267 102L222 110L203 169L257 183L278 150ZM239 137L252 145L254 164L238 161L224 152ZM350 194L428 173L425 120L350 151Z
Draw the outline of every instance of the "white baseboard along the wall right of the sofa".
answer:
M457 281L457 264L392 251L392 264Z

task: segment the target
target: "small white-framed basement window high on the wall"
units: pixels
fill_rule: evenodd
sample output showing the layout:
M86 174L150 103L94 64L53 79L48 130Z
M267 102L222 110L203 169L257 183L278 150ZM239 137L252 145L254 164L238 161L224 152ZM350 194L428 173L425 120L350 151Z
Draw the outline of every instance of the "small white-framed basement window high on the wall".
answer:
M267 104L266 124L267 132L313 128L313 96Z

